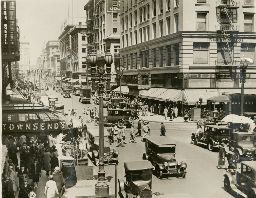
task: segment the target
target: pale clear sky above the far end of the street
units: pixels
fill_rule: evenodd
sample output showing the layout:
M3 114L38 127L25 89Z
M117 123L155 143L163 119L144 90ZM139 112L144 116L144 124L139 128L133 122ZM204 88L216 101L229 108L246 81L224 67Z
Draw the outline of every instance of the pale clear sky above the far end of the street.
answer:
M69 7L78 0L70 1ZM79 1L84 5L87 2ZM67 0L16 0L20 42L29 42L30 66L36 65L49 40L58 40L61 24L68 15L67 5Z

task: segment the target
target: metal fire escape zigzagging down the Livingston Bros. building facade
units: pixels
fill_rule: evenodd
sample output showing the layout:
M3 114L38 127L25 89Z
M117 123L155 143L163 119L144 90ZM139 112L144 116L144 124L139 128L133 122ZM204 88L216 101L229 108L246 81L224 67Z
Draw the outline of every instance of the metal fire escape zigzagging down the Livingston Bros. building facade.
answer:
M240 1L219 0L216 1L217 21L216 25L217 42L219 43L220 53L223 59L217 59L216 80L217 81L235 81L236 80L236 61L233 57L233 42L236 42L239 25L237 23L237 9L240 7ZM229 65L229 66L223 66Z

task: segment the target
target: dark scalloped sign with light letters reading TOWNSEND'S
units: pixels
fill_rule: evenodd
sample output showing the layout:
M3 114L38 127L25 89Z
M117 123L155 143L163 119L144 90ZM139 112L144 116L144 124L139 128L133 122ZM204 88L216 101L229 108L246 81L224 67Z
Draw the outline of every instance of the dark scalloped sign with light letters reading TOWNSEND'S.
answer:
M67 130L65 121L40 121L40 120L29 120L28 122L6 122L2 123L3 133L15 133L15 132L52 132Z

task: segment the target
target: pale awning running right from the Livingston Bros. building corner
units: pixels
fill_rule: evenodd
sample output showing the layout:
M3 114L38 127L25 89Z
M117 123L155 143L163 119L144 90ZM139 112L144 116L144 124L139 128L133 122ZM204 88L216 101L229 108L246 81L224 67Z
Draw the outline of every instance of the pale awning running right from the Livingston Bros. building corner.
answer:
M194 105L202 97L203 103L207 99L222 94L241 94L241 89L186 89L183 90L183 104ZM244 94L256 94L256 89L244 89Z

